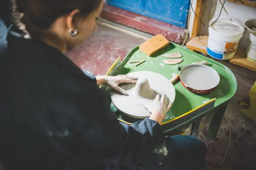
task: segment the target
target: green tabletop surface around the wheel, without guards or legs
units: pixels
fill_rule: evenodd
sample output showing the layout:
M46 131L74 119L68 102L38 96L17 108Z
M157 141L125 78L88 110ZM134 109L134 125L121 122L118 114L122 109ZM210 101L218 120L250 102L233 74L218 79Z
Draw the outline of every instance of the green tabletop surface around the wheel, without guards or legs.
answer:
M210 101L211 99L216 98L215 106L220 107L221 105L227 104L229 99L236 93L237 83L236 78L232 71L226 66L215 62L212 59L204 57L200 54L192 52L186 48L181 47L180 45L176 45L174 43L170 43L170 45L163 50L157 52L151 57L148 57L142 51L140 51L139 46L132 49L129 54L122 61L122 68L118 72L118 74L128 74L134 71L153 71L165 76L168 79L171 79L175 74L180 74L180 70L174 68L174 65L166 65L163 63L163 59L168 59L166 57L161 56L161 54L169 54L174 52L180 52L182 54L183 62L177 64L179 65L189 65L192 62L200 62L200 61L208 61L209 66L215 69L220 75L220 83L216 87L215 91L198 95L188 91L183 87L180 81L174 83L176 96L175 102L169 111L168 116L166 116L165 122L174 119L175 117L181 116L188 111L191 111L194 108L197 108L204 103ZM130 64L130 61L145 59L146 62L139 66L135 66L135 64ZM112 105L113 108L113 105ZM113 111L117 111L114 108ZM119 119L125 120L127 122L134 122L136 120L132 120L128 117L124 117L122 113L119 113Z

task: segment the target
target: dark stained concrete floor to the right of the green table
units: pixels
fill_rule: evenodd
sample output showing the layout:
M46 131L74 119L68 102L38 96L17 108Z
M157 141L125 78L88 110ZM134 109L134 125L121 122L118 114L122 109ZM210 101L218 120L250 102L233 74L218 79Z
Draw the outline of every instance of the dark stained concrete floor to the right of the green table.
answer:
M237 91L227 106L226 116L231 128L231 144L227 157L219 170L256 170L256 121L248 119L239 112L240 101L248 101L248 91L255 82L255 78L247 78L234 73L237 79ZM228 127L222 120L217 138L207 140L206 133L210 118L206 119L204 129L199 138L207 143L208 153L206 160L212 164L220 164L229 141ZM207 166L206 170L217 168Z

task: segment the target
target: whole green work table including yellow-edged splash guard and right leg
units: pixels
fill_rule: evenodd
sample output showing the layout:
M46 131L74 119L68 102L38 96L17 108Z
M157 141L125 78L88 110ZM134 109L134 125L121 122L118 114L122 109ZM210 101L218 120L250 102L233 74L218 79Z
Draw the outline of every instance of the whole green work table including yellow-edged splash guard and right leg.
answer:
M176 91L175 102L162 124L164 133L168 136L172 131L182 127L191 124L197 126L198 122L203 117L213 113L207 136L209 138L215 138L221 125L221 120L224 116L227 104L236 93L237 88L236 78L232 71L226 66L183 48L180 45L170 43L168 47L151 57L148 57L140 51L139 46L135 47L122 62L116 62L113 65L108 72L108 75L128 74L134 71L153 71L171 79L175 74L180 74L180 70L175 69L174 65L164 64L163 59L168 58L161 56L161 54L174 52L180 52L183 56L181 59L184 59L178 66L189 65L192 62L208 61L209 66L214 68L220 75L220 83L213 92L199 95L188 91L183 87L180 81L174 82L173 85ZM135 64L130 63L130 61L139 59L145 59L146 62L137 67ZM108 92L108 94L110 93ZM113 103L111 103L111 109L116 113L121 122L131 124L140 120L125 116L125 114L115 108Z

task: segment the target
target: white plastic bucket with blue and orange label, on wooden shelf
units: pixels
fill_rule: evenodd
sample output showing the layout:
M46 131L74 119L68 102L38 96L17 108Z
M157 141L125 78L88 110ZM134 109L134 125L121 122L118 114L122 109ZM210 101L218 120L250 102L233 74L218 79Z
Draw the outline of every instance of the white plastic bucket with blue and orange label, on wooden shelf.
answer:
M213 18L209 24L212 24ZM244 34L244 24L235 17L221 16L209 27L207 53L215 59L231 59Z

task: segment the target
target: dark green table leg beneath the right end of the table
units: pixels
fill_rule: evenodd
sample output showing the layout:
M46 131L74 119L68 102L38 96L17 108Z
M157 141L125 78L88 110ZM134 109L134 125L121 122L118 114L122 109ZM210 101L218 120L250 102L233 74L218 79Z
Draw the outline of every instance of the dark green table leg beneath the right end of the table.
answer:
M223 107L219 108L213 113L212 120L207 132L207 138L213 139L217 136L226 108L227 108L227 105L224 105Z

